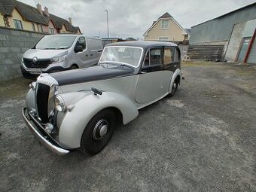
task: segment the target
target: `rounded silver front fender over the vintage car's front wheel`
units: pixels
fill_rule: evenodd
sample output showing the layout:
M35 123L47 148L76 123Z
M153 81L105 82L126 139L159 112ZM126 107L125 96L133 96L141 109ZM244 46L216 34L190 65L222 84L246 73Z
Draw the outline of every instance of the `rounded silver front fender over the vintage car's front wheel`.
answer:
M76 97L76 93L73 96ZM118 108L123 116L123 124L129 123L139 114L134 102L126 96L113 92L102 92L101 96L93 93L85 94L84 98L73 105L75 107L72 111L66 111L64 115L58 114L57 120L60 123L59 143L67 148L80 147L81 136L87 123L104 108Z

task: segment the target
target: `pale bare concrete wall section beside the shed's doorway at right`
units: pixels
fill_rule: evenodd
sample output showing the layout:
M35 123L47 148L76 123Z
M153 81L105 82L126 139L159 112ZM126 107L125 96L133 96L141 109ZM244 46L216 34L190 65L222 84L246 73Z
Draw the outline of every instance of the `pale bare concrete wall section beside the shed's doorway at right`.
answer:
M227 47L225 59L230 62L236 60L237 53L242 41L242 33L244 32L246 23L238 23L233 26L233 32Z

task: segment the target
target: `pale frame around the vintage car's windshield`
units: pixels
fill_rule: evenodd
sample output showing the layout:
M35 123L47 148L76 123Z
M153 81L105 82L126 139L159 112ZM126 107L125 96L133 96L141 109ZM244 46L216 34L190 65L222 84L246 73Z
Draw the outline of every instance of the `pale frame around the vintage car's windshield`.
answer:
M140 53L140 56L139 56L139 62L136 63L137 66L134 66L130 63L127 63L127 62L121 62L121 61L112 61L112 60L104 60L102 61L102 56L103 54L105 53L105 50L108 49L108 48L135 48L135 49L140 49L142 50L142 52ZM142 56L143 56L143 48L142 47L134 47L134 46L107 46L107 47L104 47L103 51L102 51L102 55L100 56L100 59L99 59L99 64L102 64L102 63L116 63L116 64L119 64L120 66L121 65L127 65L127 66L131 66L133 68L138 68L140 66L140 63L142 62Z

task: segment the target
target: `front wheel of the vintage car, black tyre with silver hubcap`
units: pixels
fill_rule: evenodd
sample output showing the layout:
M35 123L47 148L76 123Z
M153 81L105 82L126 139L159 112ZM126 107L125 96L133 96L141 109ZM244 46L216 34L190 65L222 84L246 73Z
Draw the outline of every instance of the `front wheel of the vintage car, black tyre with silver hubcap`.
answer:
M79 150L84 154L98 154L108 144L114 132L115 115L110 109L96 114L84 129Z

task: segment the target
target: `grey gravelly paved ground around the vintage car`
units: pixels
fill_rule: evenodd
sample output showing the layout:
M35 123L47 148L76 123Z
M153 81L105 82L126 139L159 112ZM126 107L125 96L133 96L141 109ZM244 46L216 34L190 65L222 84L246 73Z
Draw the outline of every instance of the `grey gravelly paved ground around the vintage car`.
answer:
M256 68L187 63L173 98L96 156L59 157L29 133L29 81L0 84L0 191L256 191Z

